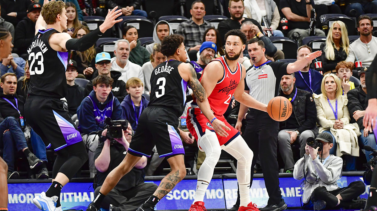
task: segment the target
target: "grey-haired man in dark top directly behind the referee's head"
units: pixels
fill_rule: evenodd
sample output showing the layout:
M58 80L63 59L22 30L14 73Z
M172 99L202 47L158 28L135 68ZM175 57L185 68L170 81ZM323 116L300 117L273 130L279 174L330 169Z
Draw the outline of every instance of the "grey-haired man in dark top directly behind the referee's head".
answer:
M247 40L252 39L254 37L258 37L261 39L265 46L265 54L267 58L273 61L277 61L279 59L284 59L284 53L282 50L277 49L274 44L271 42L268 36L265 36L259 28L253 24L251 21L244 21L241 25L241 32L243 32ZM244 50L244 56L248 56L247 48Z

